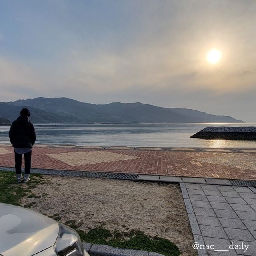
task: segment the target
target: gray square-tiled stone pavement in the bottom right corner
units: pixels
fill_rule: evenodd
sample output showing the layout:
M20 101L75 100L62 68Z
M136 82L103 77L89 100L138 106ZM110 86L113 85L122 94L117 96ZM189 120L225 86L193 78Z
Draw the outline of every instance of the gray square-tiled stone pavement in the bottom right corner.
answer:
M180 186L199 256L256 255L254 187Z

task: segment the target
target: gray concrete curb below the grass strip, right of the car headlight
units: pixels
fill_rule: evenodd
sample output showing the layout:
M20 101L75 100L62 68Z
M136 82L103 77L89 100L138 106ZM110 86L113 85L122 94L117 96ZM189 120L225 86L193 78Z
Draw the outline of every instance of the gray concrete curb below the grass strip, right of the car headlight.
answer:
M83 243L83 245L90 256L164 256L156 252L114 248L104 244Z

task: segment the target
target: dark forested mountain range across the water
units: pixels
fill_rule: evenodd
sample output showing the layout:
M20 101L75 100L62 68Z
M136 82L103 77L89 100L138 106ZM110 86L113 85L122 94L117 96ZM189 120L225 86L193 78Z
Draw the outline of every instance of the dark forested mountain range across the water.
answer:
M0 102L0 117L16 120L29 108L33 123L202 123L243 122L187 108L163 108L142 103L90 104L69 98L34 98Z

